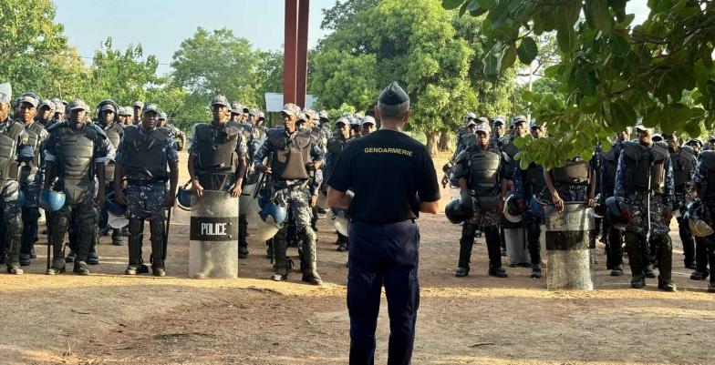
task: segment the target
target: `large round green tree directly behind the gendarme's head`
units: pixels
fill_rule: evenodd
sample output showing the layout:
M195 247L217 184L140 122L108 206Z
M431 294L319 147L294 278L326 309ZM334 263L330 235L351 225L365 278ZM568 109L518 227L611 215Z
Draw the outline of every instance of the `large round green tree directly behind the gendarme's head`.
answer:
M363 109L397 80L411 99L409 128L425 133L436 153L441 132L461 126L463 116L494 96L500 83L511 84L510 76L482 82L482 47L471 32L479 20L455 15L430 0L383 0L331 23L336 31L321 40L312 58L311 91L328 109L342 103ZM507 111L511 89L494 96L503 104L482 110Z

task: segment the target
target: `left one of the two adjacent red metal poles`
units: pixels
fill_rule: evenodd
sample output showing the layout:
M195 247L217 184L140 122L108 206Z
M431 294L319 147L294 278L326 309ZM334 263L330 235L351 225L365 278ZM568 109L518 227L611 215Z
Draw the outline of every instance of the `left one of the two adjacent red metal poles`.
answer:
M295 103L298 0L285 0L285 54L283 58L283 103Z

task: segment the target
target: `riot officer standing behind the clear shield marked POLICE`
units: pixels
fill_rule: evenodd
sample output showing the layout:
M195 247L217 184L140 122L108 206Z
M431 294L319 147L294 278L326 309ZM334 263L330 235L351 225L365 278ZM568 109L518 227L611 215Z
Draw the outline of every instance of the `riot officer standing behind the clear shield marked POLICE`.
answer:
M244 141L244 128L239 122L229 120L237 109L232 108L225 96L214 96L211 106L212 122L193 127L189 148L193 194L201 197L205 188L229 191L233 198L238 198L246 176L248 147ZM234 106L240 105L234 103ZM245 228L244 220L239 218L239 258L248 255Z

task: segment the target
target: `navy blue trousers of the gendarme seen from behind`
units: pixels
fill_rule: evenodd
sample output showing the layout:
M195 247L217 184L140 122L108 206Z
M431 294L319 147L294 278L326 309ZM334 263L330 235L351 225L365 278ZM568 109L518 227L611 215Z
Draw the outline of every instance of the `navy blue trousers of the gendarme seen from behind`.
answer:
M383 284L388 297L388 364L409 364L420 307L420 229L412 220L390 224L352 221L349 238L350 364L375 363L375 329Z

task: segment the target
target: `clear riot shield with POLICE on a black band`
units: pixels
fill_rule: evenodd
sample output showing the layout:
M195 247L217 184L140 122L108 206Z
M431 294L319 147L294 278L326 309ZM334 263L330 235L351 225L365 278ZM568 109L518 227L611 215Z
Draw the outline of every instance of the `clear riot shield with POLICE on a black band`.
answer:
M238 277L238 198L203 190L192 196L189 275L196 279Z

